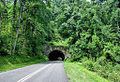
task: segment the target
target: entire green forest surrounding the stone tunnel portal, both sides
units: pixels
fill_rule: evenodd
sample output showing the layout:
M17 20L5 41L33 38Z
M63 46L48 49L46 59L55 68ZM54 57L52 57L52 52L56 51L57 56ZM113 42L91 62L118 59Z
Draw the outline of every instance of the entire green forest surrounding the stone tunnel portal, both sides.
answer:
M66 61L119 82L120 1L0 0L0 58L44 58L54 43L69 47Z

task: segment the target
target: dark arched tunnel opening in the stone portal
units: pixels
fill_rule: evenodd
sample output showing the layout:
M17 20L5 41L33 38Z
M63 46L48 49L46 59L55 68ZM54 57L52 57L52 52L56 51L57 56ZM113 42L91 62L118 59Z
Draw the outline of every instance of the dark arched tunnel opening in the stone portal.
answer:
M65 55L63 54L62 51L54 50L54 51L49 53L48 58L49 58L50 61L55 61L55 60L64 61Z

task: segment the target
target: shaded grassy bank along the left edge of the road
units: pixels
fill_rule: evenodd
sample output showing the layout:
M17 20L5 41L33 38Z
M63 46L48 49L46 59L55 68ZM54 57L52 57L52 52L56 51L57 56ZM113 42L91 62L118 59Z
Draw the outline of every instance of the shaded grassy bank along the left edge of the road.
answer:
M46 62L47 59L42 57L34 56L5 56L0 57L0 72L5 72L32 64L37 64L41 62Z

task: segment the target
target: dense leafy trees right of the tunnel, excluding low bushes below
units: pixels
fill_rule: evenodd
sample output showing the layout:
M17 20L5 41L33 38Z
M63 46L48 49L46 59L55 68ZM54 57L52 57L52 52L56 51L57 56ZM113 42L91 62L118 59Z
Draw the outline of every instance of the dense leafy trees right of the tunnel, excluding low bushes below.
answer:
M90 2L86 1L62 1L67 5L67 11L58 7L55 21L56 28L63 40L70 38L68 44L70 46L69 53L72 54L71 61L80 61L84 56L95 60L106 55L107 59L113 62L119 62L119 8L118 2L106 0L106 2ZM70 5L69 5L70 4ZM114 6L113 6L114 5ZM56 14L56 11L55 13ZM112 49L106 49L112 45Z

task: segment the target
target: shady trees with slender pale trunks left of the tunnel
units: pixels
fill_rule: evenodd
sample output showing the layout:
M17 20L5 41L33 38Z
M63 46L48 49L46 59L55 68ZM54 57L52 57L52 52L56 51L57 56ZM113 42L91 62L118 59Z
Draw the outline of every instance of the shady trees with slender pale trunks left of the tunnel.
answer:
M54 37L48 4L37 0L14 1L14 4L0 1L0 56L13 53L40 56L43 44Z

